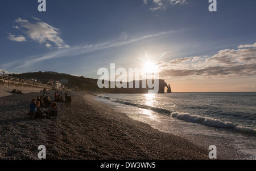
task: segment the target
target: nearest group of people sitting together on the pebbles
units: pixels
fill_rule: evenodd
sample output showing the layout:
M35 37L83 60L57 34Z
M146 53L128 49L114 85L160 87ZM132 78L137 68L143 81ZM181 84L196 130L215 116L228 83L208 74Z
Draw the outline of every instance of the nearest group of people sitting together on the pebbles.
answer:
M47 112L43 112L40 108L48 108ZM47 118L55 119L59 107L56 102L51 102L49 97L38 96L37 99L32 99L30 104L30 119Z

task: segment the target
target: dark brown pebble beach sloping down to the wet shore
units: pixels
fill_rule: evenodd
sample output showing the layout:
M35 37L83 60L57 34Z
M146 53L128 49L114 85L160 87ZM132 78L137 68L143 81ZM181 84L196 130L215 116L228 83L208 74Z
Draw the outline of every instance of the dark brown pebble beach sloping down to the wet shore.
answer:
M72 92L72 107L58 102L56 120L29 120L32 98L40 93L0 97L0 159L205 160L209 151L176 135L134 121L92 95ZM49 96L53 99L53 94ZM2 104L3 103L3 104ZM44 108L42 108L44 110Z

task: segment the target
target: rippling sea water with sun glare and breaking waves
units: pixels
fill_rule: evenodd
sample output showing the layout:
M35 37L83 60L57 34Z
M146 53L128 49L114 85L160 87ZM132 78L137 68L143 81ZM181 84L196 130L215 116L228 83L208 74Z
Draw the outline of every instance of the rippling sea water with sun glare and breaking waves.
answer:
M255 159L256 92L105 94L98 97L97 100L160 131L183 136L195 144L202 142L189 135L210 137L218 146L225 139L230 146L248 155L248 159Z

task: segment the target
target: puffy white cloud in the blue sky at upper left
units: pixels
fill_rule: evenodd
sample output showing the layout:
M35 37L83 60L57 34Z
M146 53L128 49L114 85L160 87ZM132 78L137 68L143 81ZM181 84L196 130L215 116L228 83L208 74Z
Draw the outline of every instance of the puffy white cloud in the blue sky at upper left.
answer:
M59 37L59 29L47 23L40 22L38 18L34 19L37 21L36 23L30 23L28 20L21 18L16 19L15 23L20 25L19 28L23 28L22 31L26 33L30 39L39 42L39 44L46 43L49 45L48 42L53 42L57 49L69 48L69 45L66 45Z

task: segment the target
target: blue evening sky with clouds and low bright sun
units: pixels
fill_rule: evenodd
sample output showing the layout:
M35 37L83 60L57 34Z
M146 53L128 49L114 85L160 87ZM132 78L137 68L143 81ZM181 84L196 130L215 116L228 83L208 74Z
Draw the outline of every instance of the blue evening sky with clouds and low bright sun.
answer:
M174 92L256 91L256 1L0 1L0 71L158 66Z

